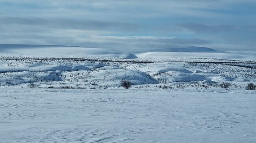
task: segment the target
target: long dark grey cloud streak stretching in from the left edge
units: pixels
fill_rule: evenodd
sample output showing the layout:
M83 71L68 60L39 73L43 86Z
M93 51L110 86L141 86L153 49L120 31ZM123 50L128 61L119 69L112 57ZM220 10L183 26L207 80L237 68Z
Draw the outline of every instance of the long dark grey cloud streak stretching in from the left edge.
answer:
M130 22L77 20L67 18L36 18L36 17L0 17L4 26L38 25L56 29L81 29L81 30L111 30L111 31L135 31L140 26Z

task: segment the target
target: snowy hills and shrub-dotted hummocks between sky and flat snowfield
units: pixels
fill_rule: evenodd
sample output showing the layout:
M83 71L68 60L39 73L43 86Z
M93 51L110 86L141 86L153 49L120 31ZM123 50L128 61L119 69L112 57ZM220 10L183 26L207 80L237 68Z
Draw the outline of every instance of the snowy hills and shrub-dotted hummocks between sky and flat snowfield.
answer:
M146 52L135 56L97 48L2 44L0 86L33 82L42 88L65 84L113 88L120 87L121 80L129 80L136 86L163 84L176 88L177 84L188 84L190 88L203 84L219 86L223 82L244 87L248 82L256 82L253 55L189 48L195 52Z

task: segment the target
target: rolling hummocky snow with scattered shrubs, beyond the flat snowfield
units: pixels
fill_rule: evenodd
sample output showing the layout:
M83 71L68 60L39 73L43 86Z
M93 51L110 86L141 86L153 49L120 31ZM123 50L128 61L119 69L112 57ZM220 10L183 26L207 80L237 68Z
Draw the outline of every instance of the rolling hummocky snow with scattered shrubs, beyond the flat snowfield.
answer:
M171 58L171 60L164 58L151 60L152 63L115 62L113 59L110 62L108 60L109 58L106 58L105 62L90 62L72 59L37 60L23 57L11 57L9 60L8 57L2 57L0 86L35 82L40 87L45 87L44 82L48 82L48 85L58 85L57 87L61 87L62 84L69 84L73 87L79 84L80 87L91 88L87 86L91 83L119 87L121 80L129 80L133 85L160 83L182 85L185 83L191 87L193 87L191 84L195 85L197 81L206 84L230 82L236 84L235 87L244 88L248 82L256 82L254 68L239 67L255 66L255 62L251 60L232 61L233 64L239 66L211 63L230 62L229 60L201 58ZM143 59L134 59L134 61L143 62ZM202 84L199 85L201 86Z

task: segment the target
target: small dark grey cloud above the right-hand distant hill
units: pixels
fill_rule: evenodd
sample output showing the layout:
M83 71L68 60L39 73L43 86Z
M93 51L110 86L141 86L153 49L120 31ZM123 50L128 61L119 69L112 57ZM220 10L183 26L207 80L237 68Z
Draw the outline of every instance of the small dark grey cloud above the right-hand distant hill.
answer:
M178 24L178 26L195 33L221 33L234 29L233 25L204 25L195 23Z

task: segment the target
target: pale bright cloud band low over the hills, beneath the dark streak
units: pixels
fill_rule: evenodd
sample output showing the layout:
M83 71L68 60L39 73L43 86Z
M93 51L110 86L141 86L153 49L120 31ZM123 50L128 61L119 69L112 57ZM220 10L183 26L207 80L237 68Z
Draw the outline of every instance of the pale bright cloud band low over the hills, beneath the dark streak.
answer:
M190 45L205 45L211 43L207 40L199 38L170 38L158 36L100 36L100 34L104 34L105 31L46 28L40 29L41 31L38 32L33 30L33 28L30 30L30 26L28 25L23 25L20 28L22 31L13 29L12 32L7 30L4 33L1 33L0 43L74 45L81 47L118 49L123 51L187 47Z

